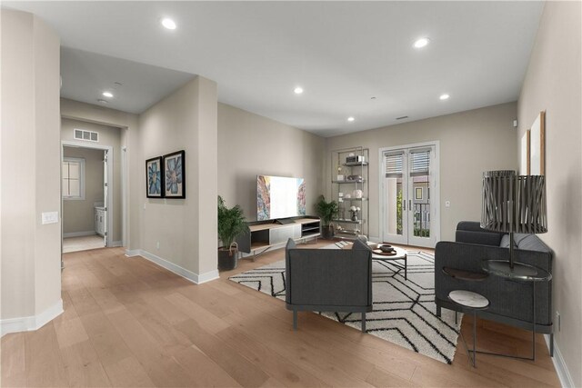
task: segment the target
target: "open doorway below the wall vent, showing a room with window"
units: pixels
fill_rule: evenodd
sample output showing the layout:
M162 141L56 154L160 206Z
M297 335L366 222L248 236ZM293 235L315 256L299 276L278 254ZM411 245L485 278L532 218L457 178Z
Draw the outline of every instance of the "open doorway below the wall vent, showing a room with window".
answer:
M62 252L111 246L111 147L62 142Z

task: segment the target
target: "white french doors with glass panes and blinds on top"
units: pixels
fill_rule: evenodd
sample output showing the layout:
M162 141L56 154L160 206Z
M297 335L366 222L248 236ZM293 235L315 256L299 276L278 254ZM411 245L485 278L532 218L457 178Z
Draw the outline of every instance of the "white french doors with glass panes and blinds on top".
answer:
M437 150L437 144L416 144L380 151L382 241L426 247L437 244Z

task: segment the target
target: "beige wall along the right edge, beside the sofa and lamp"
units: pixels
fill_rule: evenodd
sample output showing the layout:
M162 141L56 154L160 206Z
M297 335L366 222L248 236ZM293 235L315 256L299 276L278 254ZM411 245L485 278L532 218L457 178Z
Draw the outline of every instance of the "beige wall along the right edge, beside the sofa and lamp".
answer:
M547 2L519 96L517 139L546 110L547 234L555 254L559 353L582 386L582 80L580 2ZM557 330L557 327L556 327Z

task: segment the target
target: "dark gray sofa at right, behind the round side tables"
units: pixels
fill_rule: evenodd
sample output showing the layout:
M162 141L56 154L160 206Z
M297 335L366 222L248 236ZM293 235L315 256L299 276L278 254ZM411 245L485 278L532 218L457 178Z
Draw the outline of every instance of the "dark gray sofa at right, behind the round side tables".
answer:
M552 273L552 251L535 234L515 234L515 260L536 265ZM478 311L482 318L532 329L532 284L507 281L490 275L483 281L467 281L451 277L444 267L485 274L484 260L509 259L509 235L481 229L477 222L457 225L456 242L439 242L435 249L435 303L441 308L461 311L447 296L453 290L481 293L490 302L487 310ZM536 284L536 332L553 333L552 281Z

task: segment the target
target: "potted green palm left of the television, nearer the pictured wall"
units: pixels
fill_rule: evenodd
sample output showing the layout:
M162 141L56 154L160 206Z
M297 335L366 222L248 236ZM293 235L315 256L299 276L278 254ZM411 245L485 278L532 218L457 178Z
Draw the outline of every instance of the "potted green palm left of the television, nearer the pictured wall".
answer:
M218 248L218 269L229 271L236 268L236 253L238 244L235 239L238 234L248 232L245 214L237 204L232 208L226 207L225 200L218 195L218 238L223 246Z

